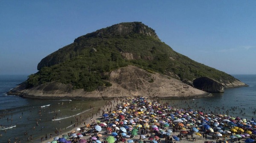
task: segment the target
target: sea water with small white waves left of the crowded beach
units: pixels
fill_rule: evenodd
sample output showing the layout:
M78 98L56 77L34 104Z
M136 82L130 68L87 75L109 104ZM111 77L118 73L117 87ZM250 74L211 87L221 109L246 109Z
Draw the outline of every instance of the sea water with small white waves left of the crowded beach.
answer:
M101 107L105 101L41 100L6 95L6 92L26 81L26 75L0 76L0 143L55 136L55 129L63 132L73 129L76 118L90 117L90 107ZM54 119L54 120L53 120ZM80 125L83 126L83 125ZM25 133L27 133L25 135ZM29 140L29 142L31 142Z

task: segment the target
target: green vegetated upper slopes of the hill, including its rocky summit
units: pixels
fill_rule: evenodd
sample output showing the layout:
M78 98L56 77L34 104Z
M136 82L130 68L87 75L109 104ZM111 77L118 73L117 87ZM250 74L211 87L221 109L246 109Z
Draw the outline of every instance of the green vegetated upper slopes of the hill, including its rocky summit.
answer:
M235 80L175 52L141 22L126 22L78 37L72 44L42 59L38 73L30 75L26 82L32 87L58 81L72 84L74 89L93 91L99 86L111 86L108 73L127 65L180 80L193 81L202 76L216 81Z

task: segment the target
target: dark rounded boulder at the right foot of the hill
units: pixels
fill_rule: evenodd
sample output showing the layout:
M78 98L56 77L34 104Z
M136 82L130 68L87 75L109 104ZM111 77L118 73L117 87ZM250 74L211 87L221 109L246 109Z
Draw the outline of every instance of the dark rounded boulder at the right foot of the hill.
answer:
M200 77L193 81L195 88L204 90L208 93L224 93L224 87L218 81L209 77Z

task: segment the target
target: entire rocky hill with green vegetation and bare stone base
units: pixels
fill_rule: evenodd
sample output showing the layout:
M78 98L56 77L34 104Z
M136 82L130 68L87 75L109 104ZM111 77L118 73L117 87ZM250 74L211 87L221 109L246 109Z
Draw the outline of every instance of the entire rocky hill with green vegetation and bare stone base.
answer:
M42 59L38 70L9 94L30 98L194 98L209 95L201 91L205 85L209 85L207 92L246 86L227 73L175 52L141 22L119 23L80 36ZM202 77L215 84L199 80L194 86L193 81Z

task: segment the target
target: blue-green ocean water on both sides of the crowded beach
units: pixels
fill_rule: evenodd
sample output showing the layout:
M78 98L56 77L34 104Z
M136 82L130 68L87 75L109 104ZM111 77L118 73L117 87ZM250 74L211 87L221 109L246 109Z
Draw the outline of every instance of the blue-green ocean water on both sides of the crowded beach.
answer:
M214 93L211 97L198 99L160 100L168 102L177 109L191 108L202 112L215 112L251 119L255 116L256 107L256 75L233 75L248 87L225 89L224 93ZM55 129L66 132L73 128L75 117L84 113L91 115L91 107L100 107L105 101L83 100L38 100L6 95L10 89L26 81L27 75L0 75L0 140L11 142L21 140L28 143L27 138L34 139L52 134ZM52 119L55 118L55 121ZM25 135L25 133L27 133Z

